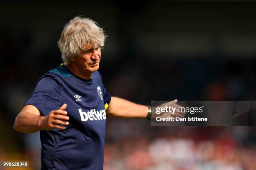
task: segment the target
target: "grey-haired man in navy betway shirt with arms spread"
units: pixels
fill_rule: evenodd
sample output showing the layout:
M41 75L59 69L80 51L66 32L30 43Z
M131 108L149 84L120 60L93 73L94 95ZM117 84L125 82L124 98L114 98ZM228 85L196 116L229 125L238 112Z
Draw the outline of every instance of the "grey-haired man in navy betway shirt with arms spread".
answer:
M38 80L15 119L17 131L40 131L43 170L102 170L106 114L151 117L150 107L110 97L105 89L97 71L104 40L102 28L93 20L70 20L58 42L64 65Z

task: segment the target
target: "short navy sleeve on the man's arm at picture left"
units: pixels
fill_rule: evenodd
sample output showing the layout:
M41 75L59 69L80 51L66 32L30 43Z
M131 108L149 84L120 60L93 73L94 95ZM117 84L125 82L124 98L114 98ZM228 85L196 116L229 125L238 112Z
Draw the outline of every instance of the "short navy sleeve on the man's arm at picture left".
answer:
M53 77L41 78L26 105L37 107L45 116L52 110L57 110L61 106L61 87L58 80Z

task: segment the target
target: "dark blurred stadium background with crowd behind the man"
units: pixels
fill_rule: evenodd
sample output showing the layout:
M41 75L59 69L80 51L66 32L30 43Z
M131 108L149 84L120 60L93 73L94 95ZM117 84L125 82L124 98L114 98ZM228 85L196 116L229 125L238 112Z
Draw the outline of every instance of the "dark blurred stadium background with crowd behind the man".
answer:
M39 133L15 132L13 123L38 78L61 64L57 41L77 15L108 35L100 72L113 96L145 105L256 100L254 1L2 1L0 160L41 168ZM255 160L253 126L151 127L108 117L105 170L256 170Z

